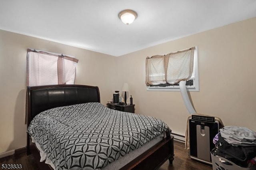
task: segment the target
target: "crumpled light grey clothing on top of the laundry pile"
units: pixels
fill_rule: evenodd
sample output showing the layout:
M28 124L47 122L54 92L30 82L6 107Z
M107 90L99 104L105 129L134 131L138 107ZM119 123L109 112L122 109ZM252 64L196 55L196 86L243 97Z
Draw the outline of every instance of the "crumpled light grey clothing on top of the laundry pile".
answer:
M246 127L226 126L220 129L220 134L233 146L256 146L256 132Z

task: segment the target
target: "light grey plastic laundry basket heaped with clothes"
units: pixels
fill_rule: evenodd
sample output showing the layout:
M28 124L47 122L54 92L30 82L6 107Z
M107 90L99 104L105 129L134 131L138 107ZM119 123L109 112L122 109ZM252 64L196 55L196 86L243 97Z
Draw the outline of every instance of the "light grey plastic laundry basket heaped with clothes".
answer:
M231 162L230 160L227 160L217 155L215 156L213 154L213 150L211 151L213 170L256 170L256 166L252 166L250 168L244 168L236 165L234 162Z

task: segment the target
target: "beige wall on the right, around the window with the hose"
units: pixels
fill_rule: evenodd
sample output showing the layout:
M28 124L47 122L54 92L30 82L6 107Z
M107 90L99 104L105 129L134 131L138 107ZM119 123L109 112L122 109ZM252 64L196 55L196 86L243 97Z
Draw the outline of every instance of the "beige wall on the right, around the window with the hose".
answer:
M198 46L200 92L190 92L196 111L256 131L255 30L252 18L120 56L118 85L129 84L136 113L163 119L184 135L189 114L180 92L147 91L145 59Z

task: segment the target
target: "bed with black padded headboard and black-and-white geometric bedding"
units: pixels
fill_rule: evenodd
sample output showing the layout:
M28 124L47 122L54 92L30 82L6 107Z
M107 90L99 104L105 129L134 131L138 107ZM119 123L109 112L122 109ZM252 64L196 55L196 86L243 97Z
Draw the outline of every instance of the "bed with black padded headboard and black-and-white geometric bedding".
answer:
M87 119L95 120L95 122L98 120L104 120L104 121L107 120L106 117L101 117L101 116L96 117L95 115L96 115L97 109L95 109L95 108L98 108L98 110L104 111L108 115L112 115L112 117L116 117L115 114L121 115L122 119L126 119L126 117L131 117L132 119L138 121L141 119L141 117L144 117L144 115L115 111L115 110L112 110L112 109L109 109L109 108L103 106L102 104L100 104L99 89L98 89L98 87L94 87L94 86L48 85L48 86L27 87L26 96L27 96L27 115L28 115L27 120L28 120L28 128L30 129L30 132L27 133L27 147L26 147L27 154L31 154L31 153L33 154L36 162L39 164L39 167L42 170L54 169L54 168L52 168L51 166L48 165L48 164L52 164L50 159L48 159L48 162L46 159L47 164L45 164L44 162L40 162L42 152L44 151L44 149L42 149L40 147L44 147L44 146L43 145L40 146L40 144L39 144L40 140L38 140L38 139L37 139L38 141L34 140L34 138L41 135L40 129L37 128L37 127L39 127L38 124L40 124L40 123L35 122L35 120L38 120L38 121L40 121L42 119L48 120L49 116L47 114L52 114L52 113L50 113L50 111L51 112L56 111L56 108L57 108L58 113L61 113L61 114L56 115L56 119L60 118L64 121L68 120L68 118L70 118L70 117L71 117L71 119L70 119L71 121L74 121L76 119L76 118L73 118L73 115L72 115L73 113L71 114L69 112L70 109L74 110L74 108L80 109L80 110L78 110L77 114L80 116L83 116L83 119L85 119L84 117L86 117L86 120ZM80 114L80 113L83 113L84 107L87 108L86 114L87 114L87 111L90 112L87 115L85 115L85 113ZM83 109L81 110L81 108L83 108ZM92 109L89 109L89 108L92 108ZM67 109L69 109L69 110L67 110ZM88 115L90 115L90 116L88 116ZM40 118L40 117L43 117L43 118ZM112 120L112 117L110 117L110 120ZM150 119L153 119L153 118L150 118ZM148 121L151 121L151 122L154 121L154 120L150 120L150 119ZM108 120L108 121L110 121L110 120ZM120 123L120 122L118 121L118 123ZM144 122L144 124L145 123L147 123L147 122ZM55 125L55 123L53 123L53 124ZM52 127L53 124L51 124L50 127ZM74 131L74 130L79 131L80 124L79 124L79 126L77 126L76 124L79 124L79 123L74 123L74 129L66 130L66 131L67 132ZM94 121L89 121L89 122L86 122L85 124L87 126L85 128L98 127L98 124L95 125ZM148 124L151 124L151 123L148 123ZM46 122L46 124L43 126L44 129L48 125L50 125L50 123ZM65 122L62 123L62 125L65 125ZM121 123L121 127L122 127L122 125L123 124ZM56 126L57 126L57 124L56 124ZM120 126L120 125L118 125L118 126ZM138 126L138 125L136 124L136 126ZM33 128L31 128L31 127L33 127ZM122 129L123 128L125 128L125 127L122 127ZM148 128L148 127L145 126L145 128ZM104 129L105 129L105 127L104 127ZM123 133L122 129L121 129L121 131L119 131L119 133L120 132ZM59 130L59 131L62 132L62 130ZM86 134L86 132L85 132L85 134ZM95 136L92 136L92 135L96 134L97 132L100 132L100 131L93 131L93 132L88 133L88 138L91 140L95 139L94 142L97 142L99 140L102 141L102 139L104 139L104 137L100 136L99 138L95 138ZM64 131L63 131L63 133L64 133ZM125 133L125 130L124 130L124 133ZM130 138L134 138L134 134L130 134L130 132L128 132L128 133L130 135ZM31 134L33 134L33 135L31 135ZM166 160L169 160L170 164L172 164L172 161L174 159L173 136L171 136L170 131L168 131L166 129L164 130L164 132L162 134L160 134L158 136L156 136L156 135L158 135L158 134L152 133L151 136L153 139L152 140L150 139L150 141L148 141L148 142L145 141L143 143L143 141L140 140L139 143L142 146L138 146L138 147L136 146L136 149L134 148L135 146L133 148L132 148L132 146L127 146L127 147L129 147L128 150L130 150L129 153L121 153L119 150L118 151L119 154L117 156L118 159L107 161L107 162L112 162L112 163L102 163L102 164L105 164L102 169L104 169L104 170L108 170L108 169L120 169L120 170L128 170L128 169L143 170L143 169L145 169L145 170L150 170L150 169L158 169L164 162L166 162ZM52 136L52 134L48 135L48 136ZM107 135L107 136L109 136L109 135ZM122 135L122 136L125 136L125 135ZM162 136L164 136L164 137L162 137ZM112 137L112 136L110 135L110 137ZM107 139L107 140L109 140L109 139ZM63 141L63 139L61 139L61 141ZM42 142L45 142L45 140L41 141L41 144L42 144ZM54 140L54 143L57 145L60 145L58 142L56 143L56 140ZM86 141L85 141L85 143L86 143ZM38 144L39 144L39 146L38 146ZM88 142L87 144L89 145L90 142ZM122 143L122 144L124 144L124 143ZM103 146L103 145L101 145L101 146ZM50 148L50 147L53 147L53 144L48 145L46 148ZM62 150L62 149L58 149L58 150ZM108 149L105 149L105 150L108 150ZM113 149L113 150L115 150L115 149ZM127 150L127 148L126 148L126 150ZM41 152L41 156L40 156L40 152ZM76 150L76 152L78 152L78 151ZM114 151L111 151L111 152L114 152ZM97 153L97 155L98 154L99 153ZM47 155L47 153L46 153L46 155ZM56 157L58 157L58 156L56 156ZM62 159L62 161L63 160L64 159ZM79 160L81 160L81 158L79 158ZM86 160L88 160L88 159L86 159ZM50 163L49 163L49 161L50 161ZM94 160L92 160L92 161L94 161ZM71 163L71 164L73 164L73 163ZM98 165L99 163L94 162L93 164ZM71 169L76 169L76 167L77 166L73 166L73 168L71 168ZM95 167L96 167L96 169L101 169L101 168L98 168L100 166L95 166L95 165L92 167L89 167L89 169L95 168ZM56 168L56 169L62 169L62 168ZM63 169L65 169L65 168L63 168ZM84 168L84 169L86 169L86 168Z

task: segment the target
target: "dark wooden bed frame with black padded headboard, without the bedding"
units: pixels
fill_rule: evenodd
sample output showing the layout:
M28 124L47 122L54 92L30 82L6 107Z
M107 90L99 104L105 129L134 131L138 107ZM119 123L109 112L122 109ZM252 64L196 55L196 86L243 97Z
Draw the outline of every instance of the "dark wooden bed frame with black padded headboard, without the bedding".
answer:
M88 85L47 85L27 87L27 123L42 111L54 107L74 105L88 102L100 102L100 92L98 87ZM149 150L134 158L121 170L154 170L160 168L166 160L170 164L174 160L174 141L170 134L152 146ZM27 154L32 153L38 167L42 170L52 169L44 162L40 162L40 153L27 134Z

